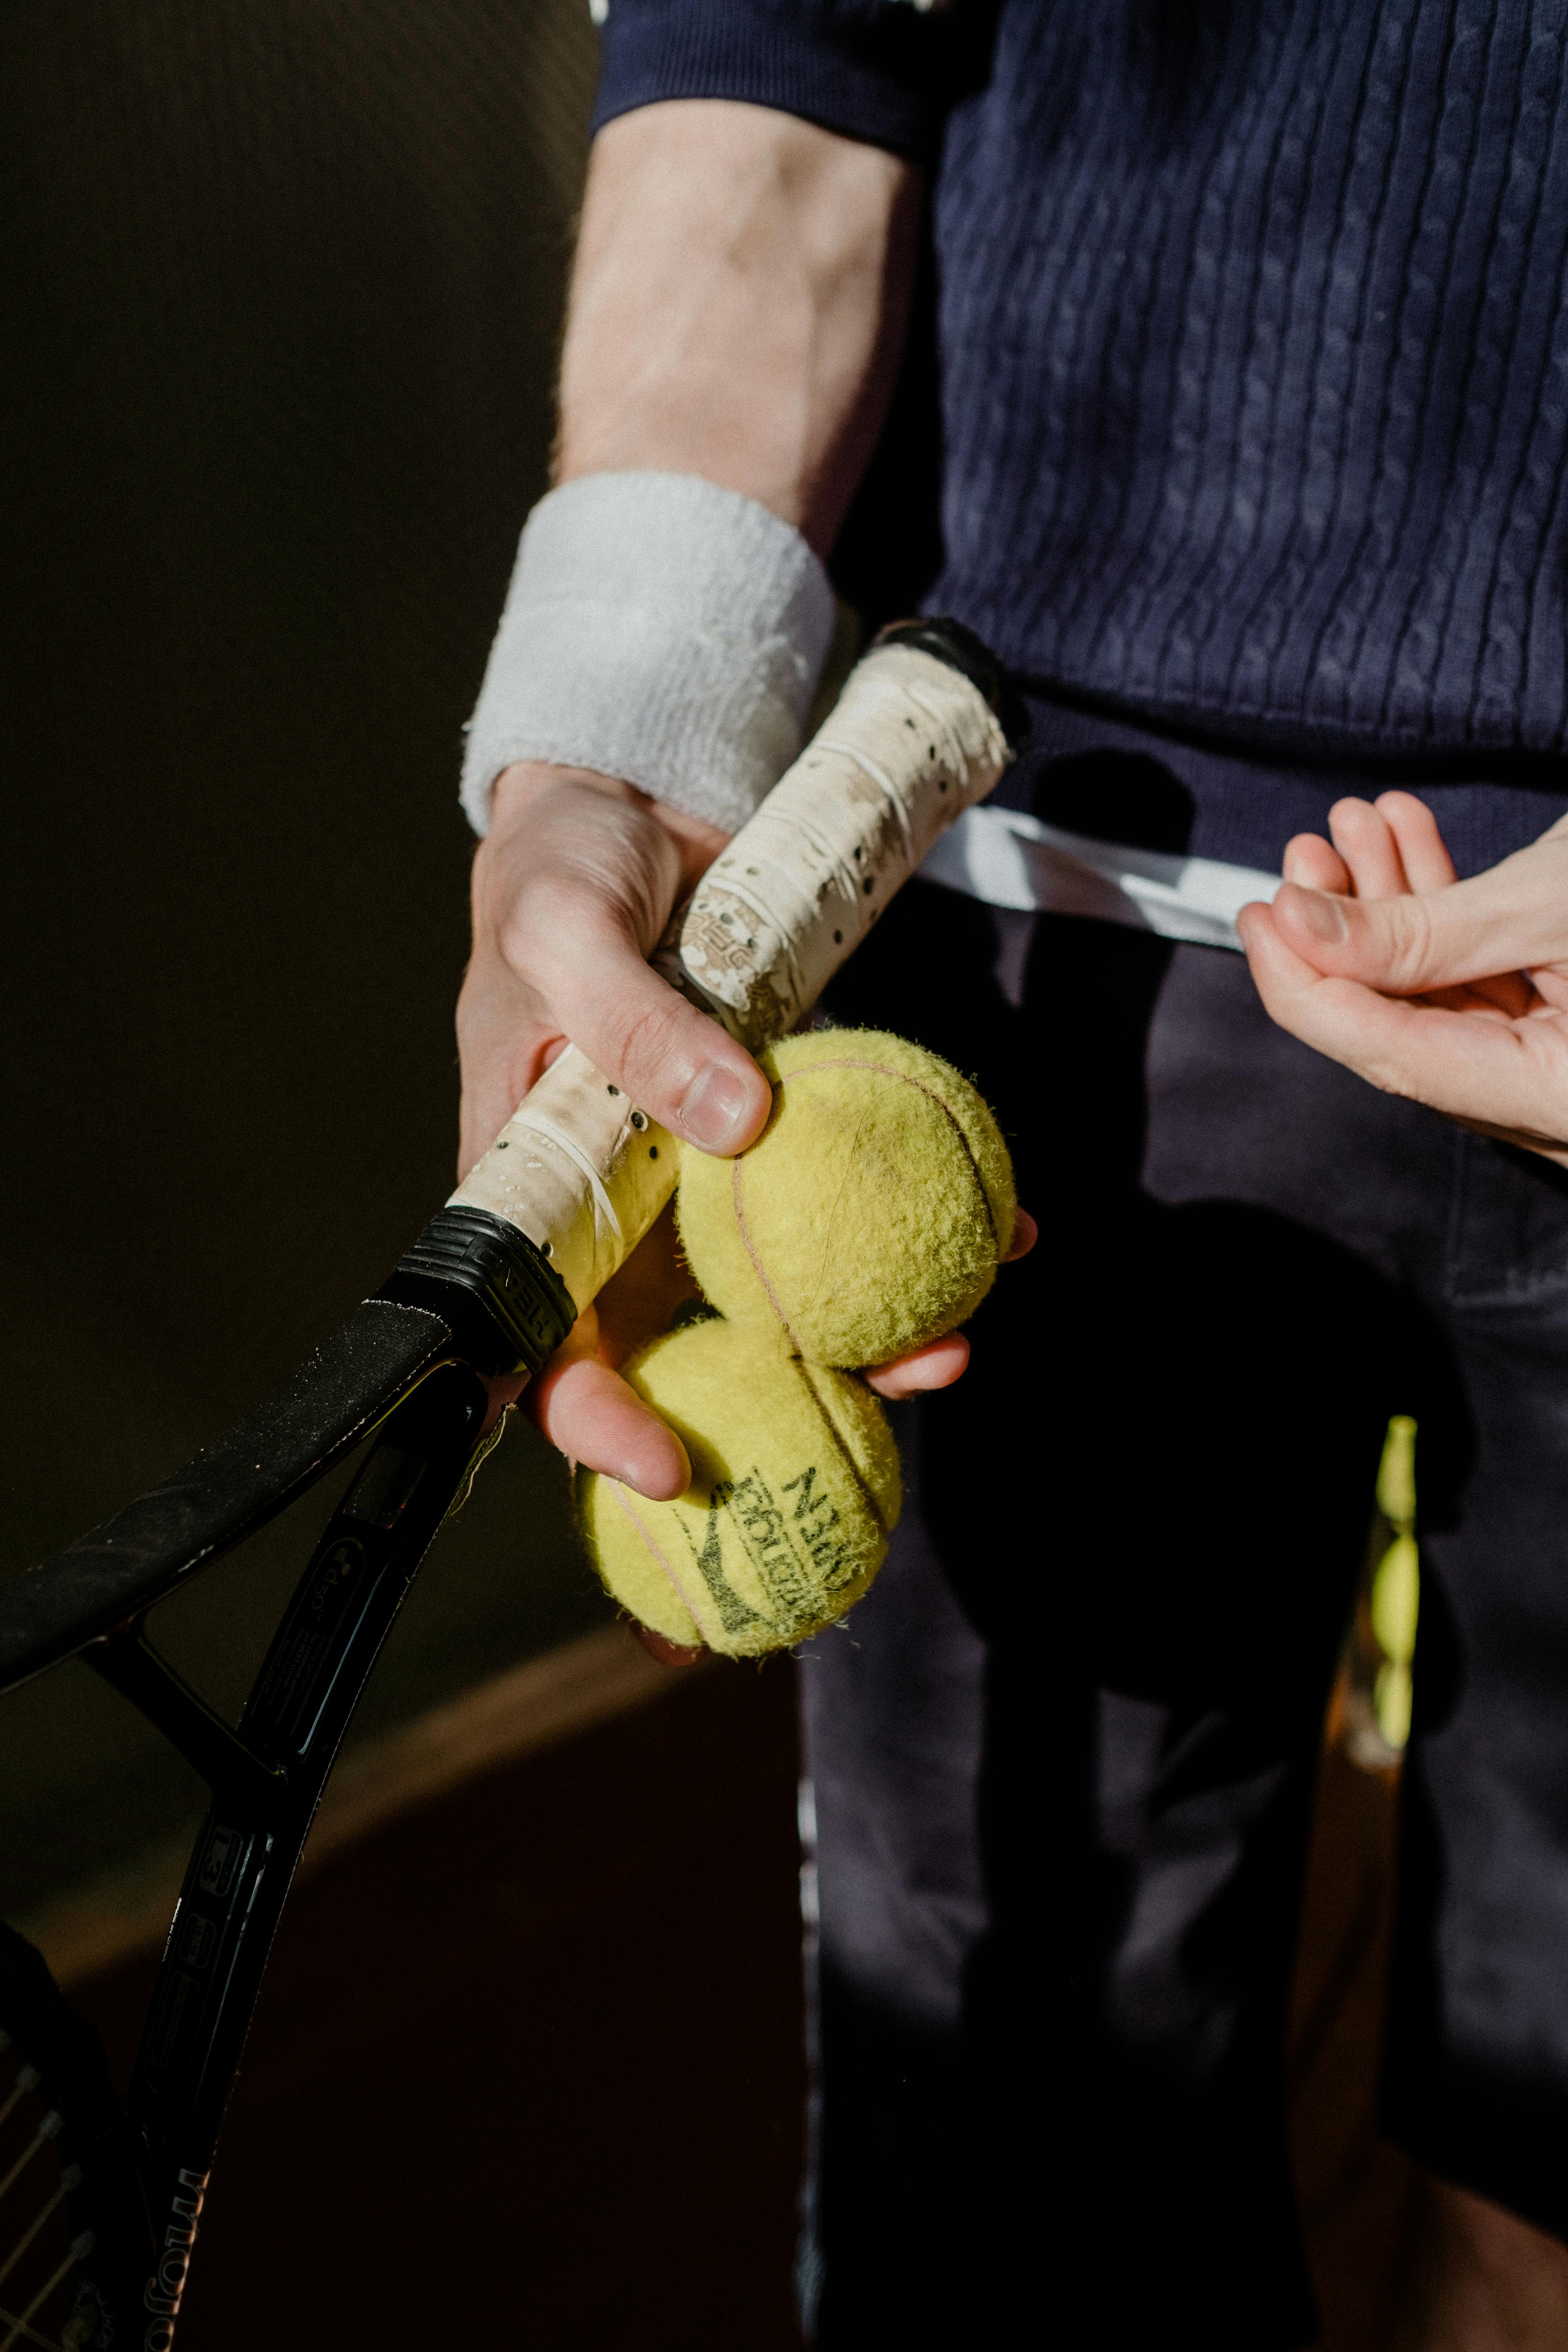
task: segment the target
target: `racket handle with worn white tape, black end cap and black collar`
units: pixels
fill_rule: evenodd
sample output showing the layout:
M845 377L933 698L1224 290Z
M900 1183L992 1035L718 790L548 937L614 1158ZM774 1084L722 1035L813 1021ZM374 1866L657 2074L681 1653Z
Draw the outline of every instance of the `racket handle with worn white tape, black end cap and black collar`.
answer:
M675 915L654 964L757 1054L811 1011L936 837L1009 760L999 663L957 621L903 621ZM480 1371L538 1371L675 1190L679 1141L576 1047L386 1284Z

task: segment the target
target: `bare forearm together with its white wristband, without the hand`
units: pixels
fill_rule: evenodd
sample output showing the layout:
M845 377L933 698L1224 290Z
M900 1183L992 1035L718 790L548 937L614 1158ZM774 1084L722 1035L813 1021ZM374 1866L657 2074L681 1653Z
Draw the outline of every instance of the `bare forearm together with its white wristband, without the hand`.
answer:
M733 833L795 757L832 637L820 564L882 423L912 165L729 101L595 141L557 489L531 515L463 755L592 769ZM510 821L510 818L508 818Z

